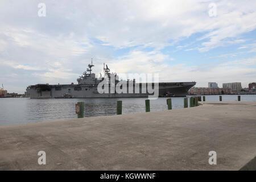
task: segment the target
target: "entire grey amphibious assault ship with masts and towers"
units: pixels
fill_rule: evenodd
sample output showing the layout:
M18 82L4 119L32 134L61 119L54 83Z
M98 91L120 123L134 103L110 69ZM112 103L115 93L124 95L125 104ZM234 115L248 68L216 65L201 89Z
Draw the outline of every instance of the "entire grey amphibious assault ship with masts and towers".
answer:
M133 80L126 80L127 92L116 92L115 86L119 82L119 77L116 73L110 73L108 65L104 64L104 75L97 78L95 73L92 73L93 63L88 64L86 71L77 78L77 84L64 85L49 85L36 84L27 87L27 92L30 98L85 98L85 97L148 97L153 94L148 92L147 85L150 83L141 83ZM110 78L114 77L114 82L110 82ZM98 92L98 85L106 80L108 83L109 92ZM123 80L121 80L124 83ZM194 86L196 82L158 82L159 97L183 97L188 94L188 90ZM113 86L114 85L114 86ZM152 83L152 88L156 86ZM105 85L104 85L105 87ZM122 87L122 86L121 86ZM129 88L130 87L130 88ZM131 88L133 87L133 88ZM114 88L114 90L112 89ZM125 88L125 87L124 87ZM136 88L136 89L135 89ZM112 92L111 92L112 90ZM145 92L146 90L146 92Z

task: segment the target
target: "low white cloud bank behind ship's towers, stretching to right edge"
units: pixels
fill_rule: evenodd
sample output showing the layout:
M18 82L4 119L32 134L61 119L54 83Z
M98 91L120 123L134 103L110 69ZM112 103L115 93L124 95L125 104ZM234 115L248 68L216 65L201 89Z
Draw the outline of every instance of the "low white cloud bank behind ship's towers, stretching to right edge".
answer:
M152 57L158 61L151 63ZM160 52L151 55L148 52L134 51L113 61L109 68L117 73L159 73L159 81L196 81L197 86L207 86L210 81L222 84L236 80L247 87L251 78L256 77L256 57L197 66L170 65L168 59L168 56Z

